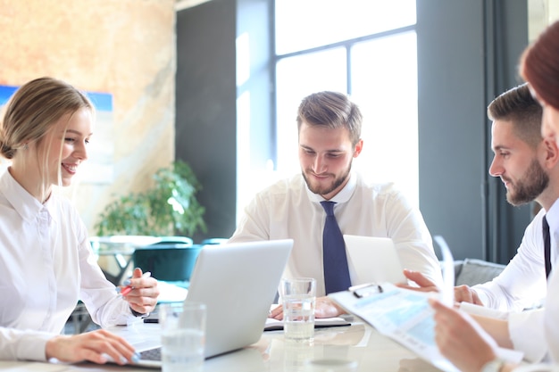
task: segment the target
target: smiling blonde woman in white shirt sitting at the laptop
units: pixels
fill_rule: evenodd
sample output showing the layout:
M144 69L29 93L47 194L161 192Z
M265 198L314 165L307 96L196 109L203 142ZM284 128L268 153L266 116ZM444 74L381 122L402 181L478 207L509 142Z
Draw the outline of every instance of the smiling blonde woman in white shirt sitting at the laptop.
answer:
M154 310L157 281L134 271L120 296L96 263L88 233L71 203L53 193L69 186L88 159L94 108L75 87L50 78L20 87L0 123L0 359L138 359L133 347L103 329L61 335L81 300L101 327L127 324Z

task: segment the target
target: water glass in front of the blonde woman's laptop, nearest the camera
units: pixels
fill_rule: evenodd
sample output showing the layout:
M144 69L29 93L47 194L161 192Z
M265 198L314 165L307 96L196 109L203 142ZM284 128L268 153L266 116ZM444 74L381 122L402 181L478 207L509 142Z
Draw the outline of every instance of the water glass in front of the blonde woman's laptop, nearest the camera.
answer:
M203 303L160 305L163 372L201 372L204 369L205 318Z

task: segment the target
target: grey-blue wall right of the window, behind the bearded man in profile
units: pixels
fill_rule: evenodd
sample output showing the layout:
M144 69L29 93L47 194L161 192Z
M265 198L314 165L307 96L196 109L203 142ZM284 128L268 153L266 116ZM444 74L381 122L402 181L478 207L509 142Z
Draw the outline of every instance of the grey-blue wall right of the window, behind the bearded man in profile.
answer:
M418 0L420 208L456 259L506 263L530 222L498 178L486 108L518 84L527 39L525 0Z

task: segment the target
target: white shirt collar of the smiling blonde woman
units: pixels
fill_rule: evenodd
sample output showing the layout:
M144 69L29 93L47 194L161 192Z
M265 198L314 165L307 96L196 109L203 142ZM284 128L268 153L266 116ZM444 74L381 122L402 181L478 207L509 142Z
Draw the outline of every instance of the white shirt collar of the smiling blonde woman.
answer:
M22 219L36 219L38 213L48 204L48 202L45 205L39 203L13 178L9 169L6 169L0 178L0 190L4 190L4 197L8 203L12 204L13 209L20 214Z

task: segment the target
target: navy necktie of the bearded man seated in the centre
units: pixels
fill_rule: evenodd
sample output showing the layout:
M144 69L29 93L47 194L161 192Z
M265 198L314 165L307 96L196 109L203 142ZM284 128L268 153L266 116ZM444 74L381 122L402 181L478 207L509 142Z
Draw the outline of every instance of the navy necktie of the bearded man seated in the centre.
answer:
M326 294L346 291L351 285L347 269L346 244L334 216L334 202L321 202L326 211L322 233L322 263Z

